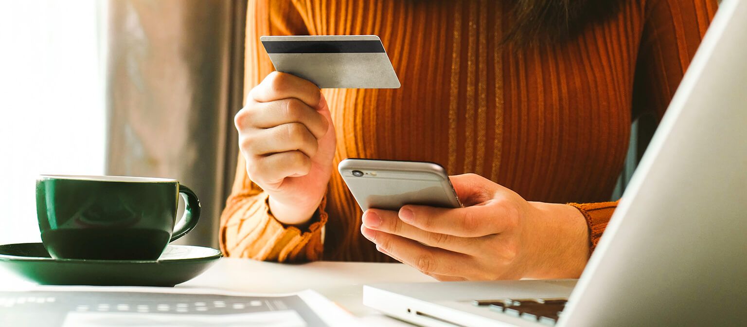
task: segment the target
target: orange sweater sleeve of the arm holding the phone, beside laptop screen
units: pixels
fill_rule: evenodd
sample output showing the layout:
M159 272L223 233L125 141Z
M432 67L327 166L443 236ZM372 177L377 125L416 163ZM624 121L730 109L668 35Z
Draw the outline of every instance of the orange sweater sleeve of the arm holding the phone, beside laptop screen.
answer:
M717 0L649 0L633 84L633 116L661 119L700 45ZM593 252L618 202L569 203L586 218Z

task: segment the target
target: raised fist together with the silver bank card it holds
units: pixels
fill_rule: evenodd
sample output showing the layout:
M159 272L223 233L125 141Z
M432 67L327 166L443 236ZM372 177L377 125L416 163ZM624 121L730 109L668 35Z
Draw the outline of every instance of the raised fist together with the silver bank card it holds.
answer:
M336 137L320 88L398 88L381 40L369 36L261 37L277 72L235 116L247 177L279 222L314 216L332 175Z

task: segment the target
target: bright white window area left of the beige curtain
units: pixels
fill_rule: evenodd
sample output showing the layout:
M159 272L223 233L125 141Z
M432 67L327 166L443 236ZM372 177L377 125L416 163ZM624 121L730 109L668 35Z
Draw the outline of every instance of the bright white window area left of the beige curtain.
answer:
M40 240L34 181L102 175L96 0L0 1L0 243Z

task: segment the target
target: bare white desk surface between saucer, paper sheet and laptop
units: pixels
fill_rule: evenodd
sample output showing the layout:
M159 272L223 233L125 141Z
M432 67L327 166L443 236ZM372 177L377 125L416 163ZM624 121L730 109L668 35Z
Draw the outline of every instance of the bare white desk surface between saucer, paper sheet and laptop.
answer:
M276 264L223 258L202 275L176 287L207 287L249 293L289 293L311 289L368 325L412 326L383 317L363 305L363 285L382 282L436 281L404 264L317 261Z

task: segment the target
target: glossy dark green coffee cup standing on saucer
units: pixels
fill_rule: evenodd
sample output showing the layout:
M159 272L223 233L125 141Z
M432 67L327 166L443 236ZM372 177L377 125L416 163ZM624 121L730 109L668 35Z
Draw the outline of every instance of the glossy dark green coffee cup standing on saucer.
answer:
M155 260L197 224L199 200L174 179L40 175L37 218L52 258Z

